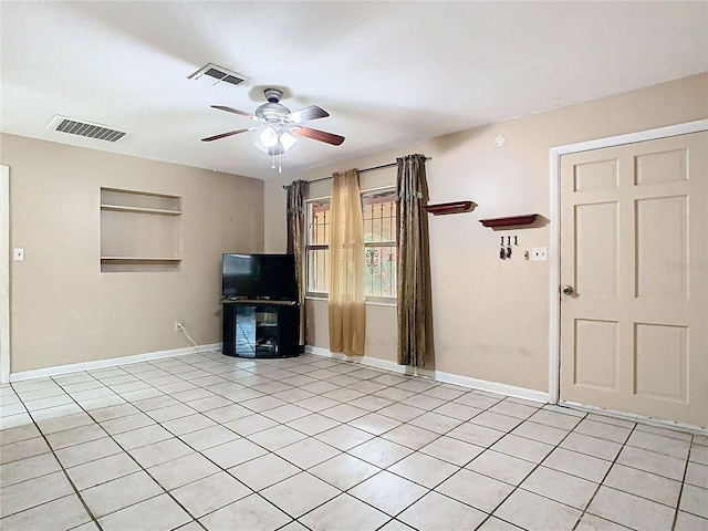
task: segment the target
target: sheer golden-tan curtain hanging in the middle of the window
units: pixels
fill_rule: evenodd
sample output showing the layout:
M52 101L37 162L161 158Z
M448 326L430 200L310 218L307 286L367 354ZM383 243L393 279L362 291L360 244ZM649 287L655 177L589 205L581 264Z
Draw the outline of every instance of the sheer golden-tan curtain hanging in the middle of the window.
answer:
M364 220L358 173L332 176L330 233L330 352L364 355Z

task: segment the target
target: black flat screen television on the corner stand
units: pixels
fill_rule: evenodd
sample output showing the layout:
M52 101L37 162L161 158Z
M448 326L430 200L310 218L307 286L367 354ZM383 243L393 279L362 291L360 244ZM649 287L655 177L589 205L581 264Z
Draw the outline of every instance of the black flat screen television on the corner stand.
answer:
M239 299L298 300L294 254L223 254L221 294Z

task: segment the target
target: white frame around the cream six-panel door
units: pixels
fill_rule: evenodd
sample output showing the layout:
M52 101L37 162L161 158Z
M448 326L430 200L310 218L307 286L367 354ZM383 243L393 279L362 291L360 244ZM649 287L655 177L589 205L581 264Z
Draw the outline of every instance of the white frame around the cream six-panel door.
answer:
M561 155L688 135L702 131L708 131L708 119L551 148L551 238L549 242L549 402L551 404L558 404L561 395Z

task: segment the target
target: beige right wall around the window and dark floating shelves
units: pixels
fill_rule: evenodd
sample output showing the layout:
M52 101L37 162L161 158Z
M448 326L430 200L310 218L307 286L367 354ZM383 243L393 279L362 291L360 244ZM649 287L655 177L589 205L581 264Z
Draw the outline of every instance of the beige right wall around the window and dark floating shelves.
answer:
M549 262L522 259L549 246L548 225L510 231L479 219L538 212L550 217L549 149L606 136L708 117L708 74L360 157L280 181L266 183L266 249L285 248L285 194L293 178L372 167L423 153L430 202L469 199L473 212L430 216L435 368L462 376L548 391ZM507 138L496 147L497 135ZM363 174L362 187L395 183L395 169ZM329 181L311 197L329 194ZM510 261L498 258L501 235L519 237ZM327 347L326 302L308 303L310 343ZM395 308L367 308L366 354L395 361Z

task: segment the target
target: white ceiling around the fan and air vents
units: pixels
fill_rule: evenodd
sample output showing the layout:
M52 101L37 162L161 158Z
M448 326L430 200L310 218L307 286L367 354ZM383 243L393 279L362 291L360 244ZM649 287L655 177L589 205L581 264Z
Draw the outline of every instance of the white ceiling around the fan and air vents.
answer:
M262 88L346 137L301 138L301 171L708 71L708 2L8 2L0 131L259 178ZM187 76L216 63L233 87ZM667 105L670 102L667 102ZM45 131L55 114L133 132L116 144Z

